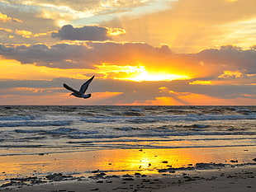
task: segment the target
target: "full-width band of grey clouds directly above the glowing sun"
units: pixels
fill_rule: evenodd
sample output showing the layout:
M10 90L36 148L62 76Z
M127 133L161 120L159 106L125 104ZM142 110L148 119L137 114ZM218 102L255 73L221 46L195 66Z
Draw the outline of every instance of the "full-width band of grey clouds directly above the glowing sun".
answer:
M5 45L0 55L21 63L34 63L49 68L97 68L102 63L117 66L145 66L148 72L187 75L189 77L219 77L225 71L239 71L241 77L256 73L256 49L223 46L206 49L198 54L174 54L168 46L149 44L88 43Z

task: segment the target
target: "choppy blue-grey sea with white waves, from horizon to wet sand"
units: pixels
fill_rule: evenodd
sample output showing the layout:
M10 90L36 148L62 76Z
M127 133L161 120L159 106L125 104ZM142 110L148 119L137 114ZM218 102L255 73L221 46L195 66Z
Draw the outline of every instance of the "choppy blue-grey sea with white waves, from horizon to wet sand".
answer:
M256 146L256 106L0 106L0 156Z

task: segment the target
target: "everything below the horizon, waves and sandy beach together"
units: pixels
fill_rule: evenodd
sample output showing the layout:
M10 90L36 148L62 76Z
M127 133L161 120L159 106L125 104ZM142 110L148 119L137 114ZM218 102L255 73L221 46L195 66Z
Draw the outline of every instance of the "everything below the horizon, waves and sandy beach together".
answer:
M1 106L0 191L255 191L255 106Z

